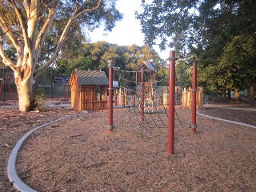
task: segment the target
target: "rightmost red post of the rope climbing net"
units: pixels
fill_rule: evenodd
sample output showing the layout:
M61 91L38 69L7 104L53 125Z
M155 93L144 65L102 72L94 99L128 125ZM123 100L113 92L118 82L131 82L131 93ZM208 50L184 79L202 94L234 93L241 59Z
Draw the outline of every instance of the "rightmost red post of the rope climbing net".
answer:
M193 83L192 83L192 103L191 103L191 109L192 109L192 133L196 133L197 128L197 119L196 119L196 111L197 111L197 65L196 63L193 64Z

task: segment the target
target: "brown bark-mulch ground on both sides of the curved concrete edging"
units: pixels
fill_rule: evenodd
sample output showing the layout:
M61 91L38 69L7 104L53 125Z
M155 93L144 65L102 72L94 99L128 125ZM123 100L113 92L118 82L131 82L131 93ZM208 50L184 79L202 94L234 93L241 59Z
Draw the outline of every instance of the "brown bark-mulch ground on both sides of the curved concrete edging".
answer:
M191 111L179 106L176 111L174 154L167 154L166 114L146 114L140 124L133 110L114 110L116 126L109 134L107 111L89 111L32 134L18 155L19 177L49 192L256 191L256 129L198 115L197 134L192 134ZM256 111L211 103L203 113L256 126ZM65 106L30 113L0 106L0 191L16 191L6 166L18 140L72 114L78 111Z

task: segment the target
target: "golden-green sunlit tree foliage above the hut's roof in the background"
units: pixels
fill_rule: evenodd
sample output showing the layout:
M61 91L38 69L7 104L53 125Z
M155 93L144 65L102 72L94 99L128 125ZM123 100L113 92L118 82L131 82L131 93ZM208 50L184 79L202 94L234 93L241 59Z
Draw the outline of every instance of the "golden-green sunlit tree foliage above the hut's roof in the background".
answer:
M136 70L142 62L152 62L164 75L162 68L165 62L155 50L149 46L118 46L109 42L84 43L78 57L73 59L58 59L57 64L61 73L70 75L79 70L108 70L109 60L121 70Z

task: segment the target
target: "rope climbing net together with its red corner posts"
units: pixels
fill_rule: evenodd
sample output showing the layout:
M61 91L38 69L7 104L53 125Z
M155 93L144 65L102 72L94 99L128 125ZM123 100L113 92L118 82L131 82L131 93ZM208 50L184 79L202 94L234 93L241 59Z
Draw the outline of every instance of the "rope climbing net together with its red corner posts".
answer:
M174 122L182 125L178 114L174 109L175 98L180 94L175 86L175 52L170 51L169 86L162 89L154 78L152 70L124 71L109 65L109 124L108 130L114 127L128 126L138 128L168 128L168 154L174 154ZM114 74L113 74L114 68ZM114 77L118 76L120 86L113 88ZM196 133L196 66L193 70L192 86L192 132ZM153 77L153 78L152 78ZM161 82L161 81L159 81ZM161 89L160 89L161 88ZM113 91L115 91L113 98ZM194 94L193 94L194 92ZM113 102L118 105L118 93L121 95L122 114L118 112L116 121L113 121ZM168 101L168 102L167 102ZM168 122L168 123L167 123ZM183 126L183 125L182 125Z

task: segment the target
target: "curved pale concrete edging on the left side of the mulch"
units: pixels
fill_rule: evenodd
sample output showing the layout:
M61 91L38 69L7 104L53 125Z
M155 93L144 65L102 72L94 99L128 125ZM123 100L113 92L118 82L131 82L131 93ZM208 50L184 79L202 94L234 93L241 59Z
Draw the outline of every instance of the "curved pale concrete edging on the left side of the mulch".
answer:
M85 111L83 114L87 114L88 112ZM46 124L43 124L41 126L38 126L34 128L33 130L30 130L27 132L14 146L14 149L12 150L7 166L7 173L8 173L8 178L10 182L13 182L14 187L21 191L21 192L36 192L37 190L32 189L30 186L27 186L25 182L22 182L22 179L18 177L17 171L16 171L16 161L17 161L17 156L18 156L18 151L21 149L23 142L26 141L26 138L30 136L30 134L33 134L36 130L48 126L54 122L59 122L65 118L72 118L75 116L78 116L81 114L74 114L74 115L69 115L64 118L58 118L57 120L54 120L52 122L47 122Z

